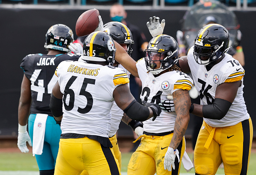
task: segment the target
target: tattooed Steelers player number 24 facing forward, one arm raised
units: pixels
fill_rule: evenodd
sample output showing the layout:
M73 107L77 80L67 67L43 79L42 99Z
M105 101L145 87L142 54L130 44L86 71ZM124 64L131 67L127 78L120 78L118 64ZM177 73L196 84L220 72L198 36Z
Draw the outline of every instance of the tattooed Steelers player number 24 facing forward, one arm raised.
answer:
M150 40L145 58L134 64L122 47L117 46L117 61L142 81L141 100L165 104L173 98L175 105L166 108L168 112L162 112L154 122L147 120L143 123L144 135L139 137L141 144L131 156L128 175L179 174L179 160L185 151L184 133L189 121L188 90L193 87L193 80L174 64L178 51L174 38L158 35ZM164 166L164 158L166 161L176 158L173 169Z

